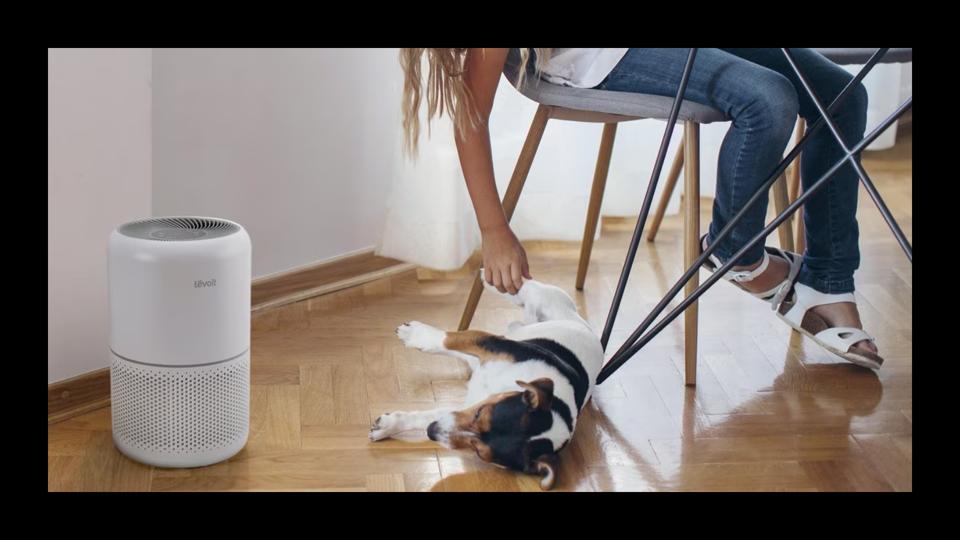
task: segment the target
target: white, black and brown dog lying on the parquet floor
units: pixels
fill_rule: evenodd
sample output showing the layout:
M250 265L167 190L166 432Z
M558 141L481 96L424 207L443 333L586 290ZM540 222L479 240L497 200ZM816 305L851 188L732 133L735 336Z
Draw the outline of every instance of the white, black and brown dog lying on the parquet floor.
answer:
M480 271L483 281L483 270ZM407 346L465 361L471 368L463 407L383 414L370 439L428 438L450 449L471 450L483 461L540 476L551 489L562 450L590 399L603 365L600 339L559 287L527 280L516 295L523 320L505 335L476 330L445 332L411 321L397 336Z

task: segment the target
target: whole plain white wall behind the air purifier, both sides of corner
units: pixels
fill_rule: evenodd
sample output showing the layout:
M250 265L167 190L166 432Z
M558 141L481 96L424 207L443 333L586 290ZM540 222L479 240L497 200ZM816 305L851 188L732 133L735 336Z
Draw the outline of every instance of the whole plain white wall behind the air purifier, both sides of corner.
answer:
M120 223L236 220L254 277L376 244L396 49L72 49L48 63L48 383L108 365Z

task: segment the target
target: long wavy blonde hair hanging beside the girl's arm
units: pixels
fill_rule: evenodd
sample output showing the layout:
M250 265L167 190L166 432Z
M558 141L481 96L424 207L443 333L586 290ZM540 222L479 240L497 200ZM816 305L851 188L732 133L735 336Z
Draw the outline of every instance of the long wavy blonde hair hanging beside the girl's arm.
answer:
M549 60L551 49L533 49L536 53L535 69L539 73ZM443 116L444 109L453 121L459 135L466 130L476 129L480 124L480 115L473 103L473 96L464 81L464 62L467 49L400 49L400 66L403 68L403 143L404 150L411 157L417 154L417 141L420 138L420 102L422 101L421 65L424 54L427 57L427 136L430 134L430 122L434 116ZM520 49L519 80L517 86L524 83L530 49Z

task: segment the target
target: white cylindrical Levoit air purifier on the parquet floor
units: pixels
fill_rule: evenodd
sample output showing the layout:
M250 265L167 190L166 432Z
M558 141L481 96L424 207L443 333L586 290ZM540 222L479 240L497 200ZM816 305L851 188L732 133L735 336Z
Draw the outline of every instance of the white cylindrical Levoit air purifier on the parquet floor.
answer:
M250 425L250 237L232 221L121 225L108 247L113 440L158 467L229 458Z

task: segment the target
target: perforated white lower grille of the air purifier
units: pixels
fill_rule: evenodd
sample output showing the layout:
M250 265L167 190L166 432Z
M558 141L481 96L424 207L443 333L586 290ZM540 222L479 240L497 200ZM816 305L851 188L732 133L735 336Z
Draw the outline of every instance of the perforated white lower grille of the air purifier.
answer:
M164 368L114 358L110 371L115 438L152 455L189 455L246 438L250 362Z

